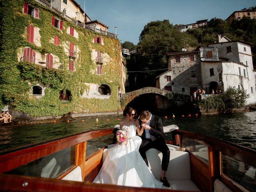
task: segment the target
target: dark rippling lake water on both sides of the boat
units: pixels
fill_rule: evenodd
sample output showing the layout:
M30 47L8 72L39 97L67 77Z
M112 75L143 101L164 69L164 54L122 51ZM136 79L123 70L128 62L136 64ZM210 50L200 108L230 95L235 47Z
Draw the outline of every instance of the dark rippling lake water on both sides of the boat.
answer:
M156 114L162 118L163 125L176 124L180 130L187 130L234 142L256 150L256 111L191 117L172 114ZM174 114L175 115L175 114ZM167 119L164 118L167 116ZM98 118L98 123L96 123ZM108 121L107 121L108 119ZM118 120L120 119L120 120ZM124 116L104 116L72 120L68 122L44 123L28 126L0 128L0 151L43 142L52 138L66 136L86 130L113 128ZM171 139L171 133L165 134Z

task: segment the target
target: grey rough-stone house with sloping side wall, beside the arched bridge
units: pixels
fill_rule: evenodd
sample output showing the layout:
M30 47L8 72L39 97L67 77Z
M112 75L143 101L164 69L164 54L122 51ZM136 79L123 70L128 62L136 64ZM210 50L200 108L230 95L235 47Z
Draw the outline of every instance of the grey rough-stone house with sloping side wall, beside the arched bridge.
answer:
M199 50L167 53L168 71L156 77L156 87L192 95L202 84L199 54Z

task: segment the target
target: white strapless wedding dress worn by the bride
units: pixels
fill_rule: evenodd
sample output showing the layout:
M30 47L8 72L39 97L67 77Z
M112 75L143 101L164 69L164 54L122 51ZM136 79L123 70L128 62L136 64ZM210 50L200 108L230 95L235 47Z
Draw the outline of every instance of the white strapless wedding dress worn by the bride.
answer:
M136 136L136 126L122 126L128 134L126 145L117 144L109 149L108 155L94 179L94 183L133 187L162 188L162 182L154 175L140 156L141 138Z

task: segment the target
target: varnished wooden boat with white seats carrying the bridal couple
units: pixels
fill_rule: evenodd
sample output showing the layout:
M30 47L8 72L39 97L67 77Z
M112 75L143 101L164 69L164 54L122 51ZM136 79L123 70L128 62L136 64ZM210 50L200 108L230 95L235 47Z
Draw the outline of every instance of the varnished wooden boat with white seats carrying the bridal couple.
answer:
M115 131L91 130L0 152L0 191L238 192L256 188L255 150L179 129L169 133L172 141L166 141L171 149L170 188L94 184L108 152L104 142L113 141ZM99 138L104 146L95 148ZM150 149L147 156L159 178L161 154Z

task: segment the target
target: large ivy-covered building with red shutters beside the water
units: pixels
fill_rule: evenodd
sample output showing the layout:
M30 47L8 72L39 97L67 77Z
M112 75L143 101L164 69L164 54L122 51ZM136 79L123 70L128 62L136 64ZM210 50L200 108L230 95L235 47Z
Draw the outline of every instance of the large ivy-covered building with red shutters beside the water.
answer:
M116 35L86 25L74 0L53 2L1 1L1 106L32 116L119 110L126 67Z

